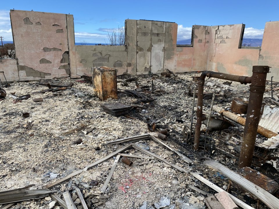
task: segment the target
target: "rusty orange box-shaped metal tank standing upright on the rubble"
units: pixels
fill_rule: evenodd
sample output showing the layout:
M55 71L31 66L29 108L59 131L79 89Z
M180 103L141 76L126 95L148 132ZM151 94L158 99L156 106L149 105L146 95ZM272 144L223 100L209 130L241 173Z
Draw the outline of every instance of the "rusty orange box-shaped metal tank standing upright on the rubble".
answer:
M92 68L93 92L100 100L117 99L116 69Z

